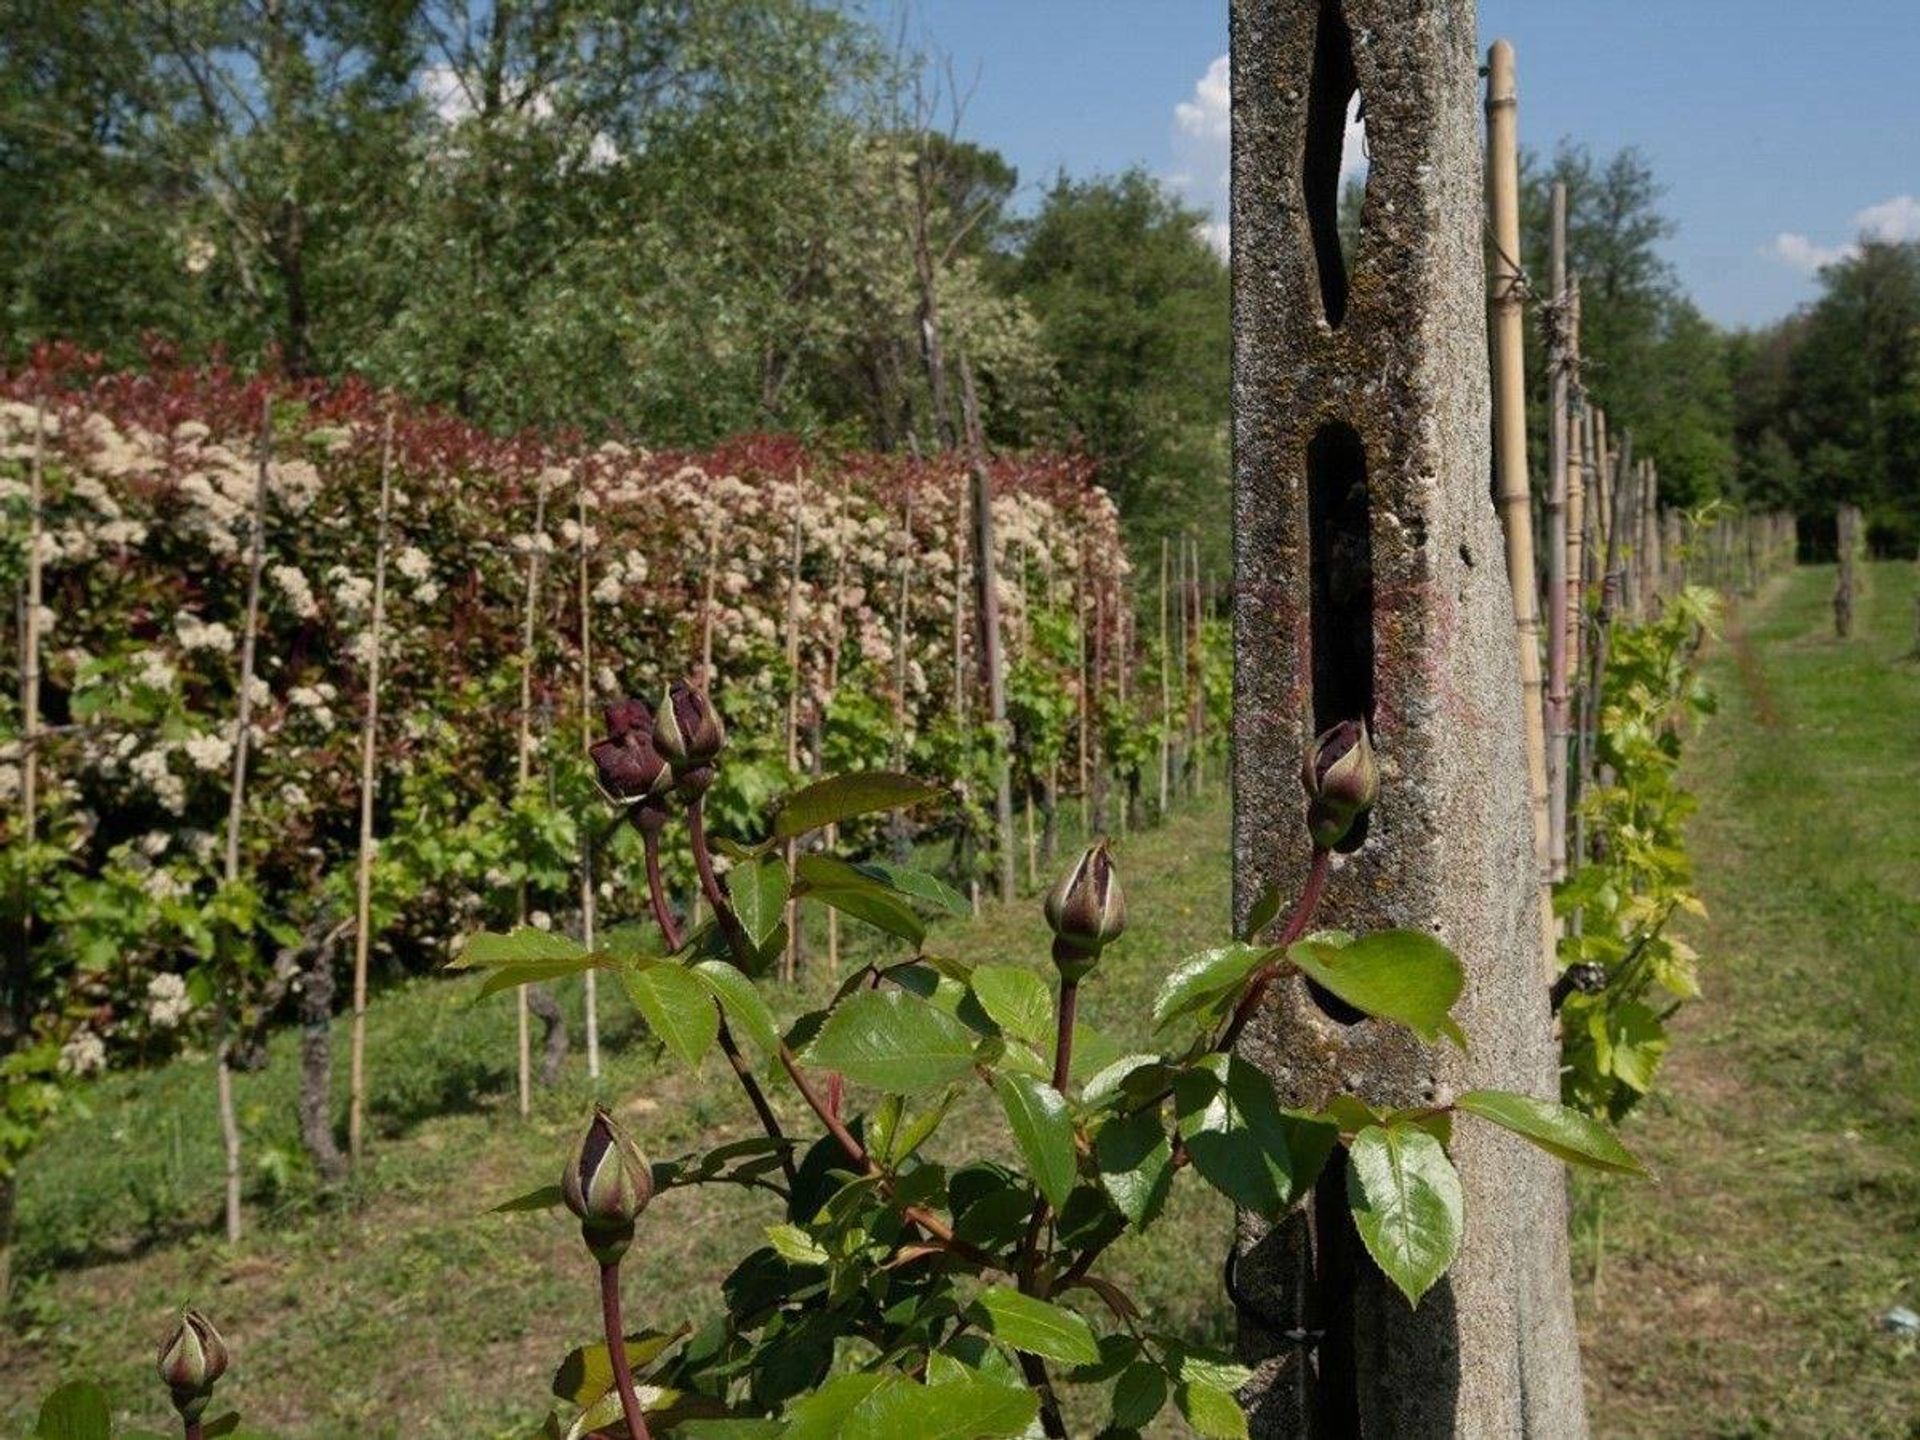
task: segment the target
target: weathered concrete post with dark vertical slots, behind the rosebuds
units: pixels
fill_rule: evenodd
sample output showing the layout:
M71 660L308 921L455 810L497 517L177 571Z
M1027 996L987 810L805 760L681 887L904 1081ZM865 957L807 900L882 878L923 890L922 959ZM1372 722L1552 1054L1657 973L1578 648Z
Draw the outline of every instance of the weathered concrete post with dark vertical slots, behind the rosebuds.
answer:
M1354 90L1371 173L1336 211ZM1308 866L1300 758L1371 718L1382 793L1323 924L1438 933L1471 1056L1277 987L1242 1052L1283 1098L1551 1096L1513 599L1488 493L1473 0L1235 0L1235 906ZM1235 1290L1258 1436L1580 1436L1559 1169L1461 1123L1467 1240L1409 1309L1354 1233L1242 1213Z

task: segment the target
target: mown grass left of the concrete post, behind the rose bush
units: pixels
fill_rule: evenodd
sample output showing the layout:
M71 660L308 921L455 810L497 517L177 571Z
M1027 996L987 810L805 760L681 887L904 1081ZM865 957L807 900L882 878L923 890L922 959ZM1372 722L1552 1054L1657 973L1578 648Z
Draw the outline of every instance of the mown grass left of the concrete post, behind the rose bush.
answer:
M1227 837L1219 797L1162 829L1125 839L1131 929L1085 991L1083 1018L1144 1039L1160 977L1227 929ZM935 929L929 948L970 960L1050 970L1037 900L987 906L977 924ZM820 945L814 947L820 954ZM829 989L824 966L791 1012ZM27 1169L19 1212L21 1298L0 1336L0 1425L19 1427L56 1379L104 1380L131 1419L165 1417L152 1348L180 1304L217 1317L236 1344L223 1398L282 1436L526 1436L547 1411L559 1357L595 1336L593 1273L561 1212L488 1215L492 1204L551 1183L593 1098L620 1110L647 1148L672 1156L756 1133L733 1077L710 1056L693 1077L657 1058L618 995L607 1068L589 1085L568 1062L559 1087L520 1119L513 1100L513 1004L468 1004L472 981L424 979L378 996L369 1020L369 1164L323 1196L298 1171L280 1187L255 1177L252 1233L228 1248L219 1231L221 1152L213 1071L182 1060L108 1081L92 1117L63 1125ZM578 1008L578 993L568 1002ZM576 1027L578 1037L578 1027ZM346 1027L336 1029L344 1054ZM238 1079L250 1156L269 1167L294 1154L296 1037ZM795 1133L812 1117L772 1087ZM979 1156L1002 1121L981 1096L935 1142ZM718 1306L718 1284L780 1219L737 1190L674 1190L647 1212L626 1263L634 1325L670 1327ZM1198 1183L1104 1267L1156 1323L1223 1342L1229 1315L1217 1260L1231 1213ZM1171 1411L1169 1411L1171 1413ZM1077 1419L1091 1432L1094 1417Z

